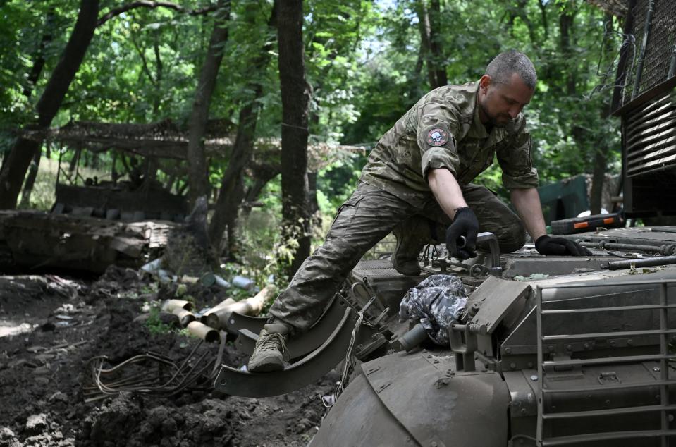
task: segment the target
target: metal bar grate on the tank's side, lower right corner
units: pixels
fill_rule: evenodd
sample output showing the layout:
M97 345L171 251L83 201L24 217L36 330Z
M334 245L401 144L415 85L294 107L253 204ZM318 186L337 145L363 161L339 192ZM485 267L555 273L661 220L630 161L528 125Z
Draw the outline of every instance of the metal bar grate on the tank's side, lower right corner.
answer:
M650 446L669 446L670 441L676 439L676 429L670 420L673 420L673 414L676 410L676 402L670 400L670 391L676 390L676 376L670 374L670 362L676 359L676 353L670 349L670 341L676 333L675 327L670 327L668 312L676 310L676 287L675 280L662 281L634 281L622 283L622 287L627 287L631 290L632 287L641 286L647 287L645 293L650 296L644 304L629 305L629 306L612 306L606 305L583 309L570 308L553 308L560 305L560 302L543 301L543 295L555 292L563 288L578 288L581 291L585 288L607 288L608 284L570 284L563 286L538 287L536 290L537 299L537 334L538 334L538 418L537 418L537 445L538 446L596 446L596 445L650 445ZM671 300L668 300L668 294L671 294ZM578 306L579 307L579 306ZM658 328L633 330L631 321L622 324L623 327L629 329L626 331L612 331L612 332L596 332L596 333L580 333L580 334L565 334L552 333L552 328L563 330L565 325L557 322L557 317L560 319L564 315L574 315L576 319L587 319L593 321L598 315L608 315L613 312L639 312L648 310L649 312L656 312L656 319L658 320ZM672 319L672 322L674 320ZM640 355L627 355L627 351L623 349L615 350L620 353L615 356L608 356L607 353L598 354L592 357L582 358L567 358L565 360L558 360L554 358L551 360L550 349L547 345L549 343L563 342L568 343L574 340L598 340L598 339L612 339L617 336L622 337L653 337L656 342L656 349L644 350ZM599 383L593 384L589 382L582 382L579 385L571 386L555 386L556 371L571 368L591 368L598 365L603 365L609 369L620 367L620 365L627 364L641 364L642 362L651 362L655 365L652 369L657 372L650 380L642 381L614 381L610 384ZM610 373L614 374L614 373ZM550 377L551 375L551 377ZM603 377L603 374L602 374ZM553 405L556 398L558 402L563 402L560 398L562 396L571 396L574 393L579 398L579 403L584 400L589 400L591 396L608 396L611 391L623 390L627 391L623 396L624 399L619 400L619 405L616 403L612 408L608 405L601 404L596 408L586 407L584 410L579 410L581 405L573 405L572 408L557 408ZM656 394L656 400L653 403L637 404L632 402L629 398L630 391L648 391ZM603 399L605 400L605 398ZM606 401L606 404L610 400ZM632 405L634 403L634 405ZM564 405L565 406L565 405ZM649 421L647 424L619 424L615 422L612 424L615 431L607 431L606 429L598 429L596 425L586 425L585 429L579 427L584 426L582 422L593 418L618 418L618 417L635 417L637 420L639 416L641 421L646 418ZM575 423L578 421L579 423ZM577 429L577 432L576 432ZM672 443L676 445L676 443Z

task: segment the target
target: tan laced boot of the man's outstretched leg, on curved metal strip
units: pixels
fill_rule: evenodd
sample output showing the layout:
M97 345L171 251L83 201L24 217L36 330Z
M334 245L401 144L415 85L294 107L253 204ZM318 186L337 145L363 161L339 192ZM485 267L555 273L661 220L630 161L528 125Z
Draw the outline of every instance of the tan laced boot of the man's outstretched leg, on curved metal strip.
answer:
M288 333L289 329L283 323L269 323L263 326L247 369L250 372L273 372L284 369L285 360L288 360L285 344Z

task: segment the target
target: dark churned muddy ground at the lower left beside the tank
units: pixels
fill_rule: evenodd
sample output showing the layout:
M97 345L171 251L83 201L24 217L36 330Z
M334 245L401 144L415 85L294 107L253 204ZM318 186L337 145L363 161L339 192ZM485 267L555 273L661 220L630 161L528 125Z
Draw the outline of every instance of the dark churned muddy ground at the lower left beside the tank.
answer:
M0 276L0 446L305 446L312 439L335 372L274 398L221 395L206 374L173 396L124 385L112 395L97 391L94 357L107 356L105 367L149 352L179 363L199 342L143 320L145 303L173 297L171 286L153 281L116 267L88 280ZM199 309L226 292L191 286L189 293ZM219 343L202 343L192 358L213 363L218 353ZM226 343L223 362L245 360ZM151 362L130 368L159 377Z

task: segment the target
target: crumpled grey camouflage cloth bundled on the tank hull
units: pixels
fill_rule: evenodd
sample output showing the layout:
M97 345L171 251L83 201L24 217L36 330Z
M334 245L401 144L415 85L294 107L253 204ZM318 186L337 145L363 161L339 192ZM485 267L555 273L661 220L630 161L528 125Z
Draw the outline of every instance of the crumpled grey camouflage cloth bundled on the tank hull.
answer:
M429 338L448 345L448 327L467 308L462 281L452 275L432 275L411 288L399 306L399 322L419 319Z

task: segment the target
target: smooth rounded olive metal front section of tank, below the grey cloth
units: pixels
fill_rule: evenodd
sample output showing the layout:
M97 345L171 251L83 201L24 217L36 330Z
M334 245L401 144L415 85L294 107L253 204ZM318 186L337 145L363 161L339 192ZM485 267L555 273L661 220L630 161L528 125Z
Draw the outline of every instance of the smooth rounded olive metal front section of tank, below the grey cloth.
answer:
M455 372L448 351L394 353L361 369L311 446L505 446L510 394L500 374Z

